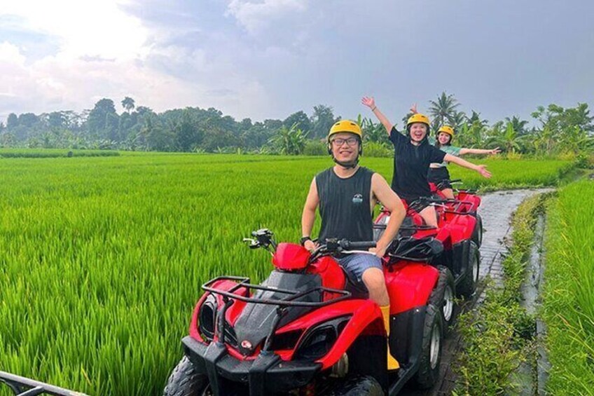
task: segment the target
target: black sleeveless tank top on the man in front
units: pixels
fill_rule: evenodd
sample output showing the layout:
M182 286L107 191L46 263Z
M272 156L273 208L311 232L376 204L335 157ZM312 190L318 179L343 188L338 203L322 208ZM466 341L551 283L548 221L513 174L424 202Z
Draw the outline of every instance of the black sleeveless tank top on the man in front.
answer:
M333 168L316 175L319 214L322 217L319 240L373 240L372 176L373 171L363 167L346 179L336 176Z

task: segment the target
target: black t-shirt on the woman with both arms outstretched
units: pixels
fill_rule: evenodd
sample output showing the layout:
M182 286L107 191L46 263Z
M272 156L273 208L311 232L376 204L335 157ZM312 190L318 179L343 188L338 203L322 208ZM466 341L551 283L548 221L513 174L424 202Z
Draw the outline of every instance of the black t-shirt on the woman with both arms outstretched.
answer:
M443 163L445 153L432 146L427 139L415 146L410 137L392 127L390 142L394 144L394 175L392 190L406 200L431 196L427 172L430 163Z

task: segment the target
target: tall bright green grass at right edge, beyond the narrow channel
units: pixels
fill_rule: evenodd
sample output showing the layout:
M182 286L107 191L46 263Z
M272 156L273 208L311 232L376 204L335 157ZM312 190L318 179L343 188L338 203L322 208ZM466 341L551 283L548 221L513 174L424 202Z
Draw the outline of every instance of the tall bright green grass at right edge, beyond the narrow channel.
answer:
M551 395L594 395L594 182L548 207L543 315Z

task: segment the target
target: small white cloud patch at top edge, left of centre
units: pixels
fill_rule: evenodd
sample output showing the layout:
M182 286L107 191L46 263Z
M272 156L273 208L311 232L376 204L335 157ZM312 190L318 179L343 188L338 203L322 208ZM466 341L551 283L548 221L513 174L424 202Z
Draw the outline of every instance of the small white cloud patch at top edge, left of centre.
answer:
M228 14L233 15L248 32L256 33L278 18L293 12L303 12L308 8L308 0L264 0L253 3L244 0L232 0Z

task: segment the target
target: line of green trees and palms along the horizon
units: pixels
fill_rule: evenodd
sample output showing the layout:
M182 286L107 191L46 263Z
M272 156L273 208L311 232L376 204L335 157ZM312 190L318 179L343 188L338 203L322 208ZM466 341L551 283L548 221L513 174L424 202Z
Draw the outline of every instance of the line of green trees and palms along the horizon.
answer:
M157 114L136 106L131 97L116 104L103 98L95 107L77 114L54 111L47 114L9 114L0 123L0 146L62 149L117 149L131 151L193 151L211 153L279 153L286 155L326 153L324 139L331 125L340 120L333 108L319 104L308 116L297 111L284 120L236 121L217 109L172 109ZM537 156L580 155L594 150L594 117L588 104L563 108L557 104L537 107L532 113L536 126L518 116L490 124L481 114L460 110L453 95L441 93L430 100L431 130L441 125L455 129L456 146L500 146L508 154ZM407 114L403 117L406 125ZM390 144L383 126L359 115L366 153L389 156Z

